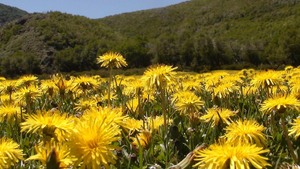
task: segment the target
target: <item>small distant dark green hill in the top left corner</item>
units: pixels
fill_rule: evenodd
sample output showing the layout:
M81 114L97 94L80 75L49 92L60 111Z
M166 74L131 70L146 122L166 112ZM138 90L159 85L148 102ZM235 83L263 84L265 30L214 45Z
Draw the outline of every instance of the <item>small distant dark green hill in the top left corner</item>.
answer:
M20 17L26 14L28 14L28 12L23 11L19 8L0 4L0 26L3 26L6 22L19 19Z

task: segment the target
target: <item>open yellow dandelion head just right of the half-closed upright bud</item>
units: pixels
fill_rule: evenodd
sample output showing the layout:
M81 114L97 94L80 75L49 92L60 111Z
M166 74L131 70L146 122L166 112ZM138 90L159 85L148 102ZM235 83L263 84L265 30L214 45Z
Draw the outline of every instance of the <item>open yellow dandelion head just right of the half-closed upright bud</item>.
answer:
M98 81L88 75L78 76L73 81L73 90L77 91L94 91L99 87Z

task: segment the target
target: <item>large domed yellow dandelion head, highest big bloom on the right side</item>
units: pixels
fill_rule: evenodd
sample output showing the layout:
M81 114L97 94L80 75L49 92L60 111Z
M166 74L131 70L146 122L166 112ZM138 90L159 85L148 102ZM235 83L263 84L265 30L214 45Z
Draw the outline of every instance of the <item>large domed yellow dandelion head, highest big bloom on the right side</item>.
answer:
M253 76L250 85L259 88L267 88L273 85L280 85L283 82L283 78L278 72L275 71L261 71Z

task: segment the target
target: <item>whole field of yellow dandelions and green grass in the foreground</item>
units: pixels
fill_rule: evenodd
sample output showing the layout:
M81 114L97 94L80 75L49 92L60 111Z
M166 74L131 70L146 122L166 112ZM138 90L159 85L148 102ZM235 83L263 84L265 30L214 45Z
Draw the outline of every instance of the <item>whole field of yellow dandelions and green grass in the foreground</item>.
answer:
M300 68L1 78L0 168L300 168Z

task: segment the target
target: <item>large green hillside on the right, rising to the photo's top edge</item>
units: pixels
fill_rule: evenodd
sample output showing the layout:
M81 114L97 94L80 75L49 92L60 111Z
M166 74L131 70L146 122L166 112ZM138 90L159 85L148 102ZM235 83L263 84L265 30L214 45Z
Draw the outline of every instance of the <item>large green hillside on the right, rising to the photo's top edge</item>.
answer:
M186 66L193 60L197 65L211 66L229 64L232 60L254 65L298 65L299 59L295 58L299 51L294 51L296 46L287 45L299 42L299 9L298 0L248 0L246 3L192 0L100 20L127 37L143 35L151 39L159 51L158 61L170 62L164 57L167 52ZM205 51L209 50L211 54L219 54L205 58Z

